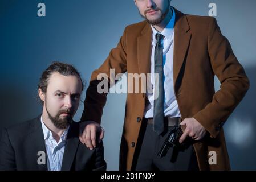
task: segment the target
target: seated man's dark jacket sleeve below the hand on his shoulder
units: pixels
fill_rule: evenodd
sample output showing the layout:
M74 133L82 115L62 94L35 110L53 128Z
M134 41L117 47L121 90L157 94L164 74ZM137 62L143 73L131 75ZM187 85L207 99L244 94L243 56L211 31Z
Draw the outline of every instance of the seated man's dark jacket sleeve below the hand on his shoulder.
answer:
M92 171L105 171L107 164L104 160L104 147L103 142L95 150L95 168Z

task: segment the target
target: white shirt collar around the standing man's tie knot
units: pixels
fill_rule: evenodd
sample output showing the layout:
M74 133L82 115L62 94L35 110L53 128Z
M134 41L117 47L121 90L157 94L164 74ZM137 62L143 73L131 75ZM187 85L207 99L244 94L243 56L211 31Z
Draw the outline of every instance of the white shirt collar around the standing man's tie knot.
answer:
M164 28L164 30L162 30L162 32L158 32L151 24L151 28L152 28L152 45L156 45L156 34L160 33L162 35L164 35L164 37L170 41L172 39L172 35L173 35L173 31L174 31L174 24L175 24L175 11L172 7L170 7L172 9L173 15L172 18L170 19L169 23L166 25L166 27Z

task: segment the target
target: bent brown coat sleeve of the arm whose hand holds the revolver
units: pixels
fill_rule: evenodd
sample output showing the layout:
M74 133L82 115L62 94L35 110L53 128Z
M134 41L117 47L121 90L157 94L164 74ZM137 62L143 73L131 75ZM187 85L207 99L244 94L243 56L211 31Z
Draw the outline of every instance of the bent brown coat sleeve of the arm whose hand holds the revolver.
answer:
M229 41L221 34L215 18L210 18L208 53L214 74L221 82L220 90L205 109L193 117L217 137L226 119L249 89L249 79L235 57Z

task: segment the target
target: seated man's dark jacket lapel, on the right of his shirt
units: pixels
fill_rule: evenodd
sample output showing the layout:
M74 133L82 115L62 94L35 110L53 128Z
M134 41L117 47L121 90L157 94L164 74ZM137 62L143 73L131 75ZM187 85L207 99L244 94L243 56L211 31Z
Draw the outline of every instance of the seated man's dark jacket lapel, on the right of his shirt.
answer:
M70 171L72 163L74 162L76 151L78 150L79 138L78 138L78 123L74 121L70 125L70 130L67 135L67 143L64 150L62 160L62 171Z

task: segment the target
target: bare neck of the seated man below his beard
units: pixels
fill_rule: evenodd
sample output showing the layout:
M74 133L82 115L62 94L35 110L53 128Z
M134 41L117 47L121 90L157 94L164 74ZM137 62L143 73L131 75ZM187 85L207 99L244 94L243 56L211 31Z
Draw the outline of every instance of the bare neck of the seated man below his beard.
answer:
M43 108L42 119L44 125L46 125L46 127L52 132L52 136L54 137L56 142L59 142L60 137L66 129L58 129L57 127L55 127L54 124L51 122L51 119L48 117L48 113L45 108Z

